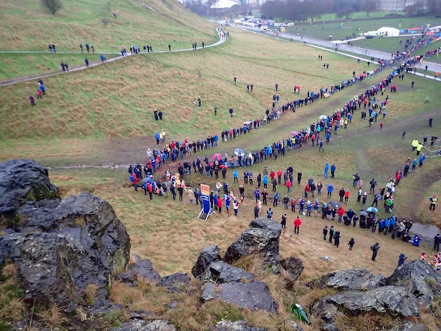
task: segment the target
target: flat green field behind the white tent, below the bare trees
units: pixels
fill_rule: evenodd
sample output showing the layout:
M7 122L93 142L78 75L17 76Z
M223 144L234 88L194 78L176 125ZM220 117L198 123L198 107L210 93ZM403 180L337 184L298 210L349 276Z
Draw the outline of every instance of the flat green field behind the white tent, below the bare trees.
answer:
M342 26L340 23L322 23L323 20L318 20L317 24L305 26L289 26L287 32L306 37L315 37L318 39L328 39L332 35L333 40L341 40L342 38L350 37L351 34L372 30L378 30L383 26L390 28L404 29L413 26L426 25L430 23L432 26L440 25L441 19L435 17L415 17L415 18L399 18L399 19L379 19L373 21L350 21L346 22L342 19ZM401 27L400 27L401 24ZM360 29L360 30L358 30ZM416 34L418 38L418 34ZM404 46L403 46L404 47Z

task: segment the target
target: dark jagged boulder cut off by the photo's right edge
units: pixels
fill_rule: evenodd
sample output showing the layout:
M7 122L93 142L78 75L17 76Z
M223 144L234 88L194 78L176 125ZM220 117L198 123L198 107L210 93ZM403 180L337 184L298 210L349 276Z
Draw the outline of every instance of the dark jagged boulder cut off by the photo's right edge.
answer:
M420 260L405 262L386 281L388 285L407 288L425 308L429 308L433 297L441 293L441 274Z

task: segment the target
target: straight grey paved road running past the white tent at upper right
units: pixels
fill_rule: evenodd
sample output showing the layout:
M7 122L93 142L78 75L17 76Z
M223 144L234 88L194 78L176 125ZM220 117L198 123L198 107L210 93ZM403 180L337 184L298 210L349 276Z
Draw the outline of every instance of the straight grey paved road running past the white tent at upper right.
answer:
M238 27L236 27L236 28L238 28ZM240 28L243 28L245 30L251 30L254 32L260 32L260 30L258 28L250 28L250 27L245 27L245 26L241 26ZM264 34L271 36L273 34L273 32L265 32ZM333 48L333 49L336 46L336 41L325 41L325 40L320 40L320 39L311 38L311 37L301 37L301 36L297 36L296 34L291 34L288 32L280 32L279 36L287 38L287 39L292 38L293 40L296 40L296 41L306 41L309 44L314 44L317 46L323 46L323 47L328 47L328 48ZM378 58L390 59L391 58L391 54L387 53L387 52L381 52L378 50L367 50L366 51L366 48L349 46L349 45L347 45L347 44L345 45L343 43L339 43L338 50L344 50L345 52L351 52L354 54L367 55L369 57L375 57L376 59L378 59ZM428 67L427 69L430 71L441 72L441 63L434 63L431 61L423 61L422 66L419 63L417 63L418 68L425 68L425 66L427 66Z

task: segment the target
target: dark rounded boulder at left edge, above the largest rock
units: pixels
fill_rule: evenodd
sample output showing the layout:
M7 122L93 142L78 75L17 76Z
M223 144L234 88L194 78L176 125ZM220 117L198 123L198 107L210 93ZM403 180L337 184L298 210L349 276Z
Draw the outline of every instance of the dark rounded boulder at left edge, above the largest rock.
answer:
M16 159L0 163L0 197L0 219L12 219L26 201L59 198L60 194L43 165Z

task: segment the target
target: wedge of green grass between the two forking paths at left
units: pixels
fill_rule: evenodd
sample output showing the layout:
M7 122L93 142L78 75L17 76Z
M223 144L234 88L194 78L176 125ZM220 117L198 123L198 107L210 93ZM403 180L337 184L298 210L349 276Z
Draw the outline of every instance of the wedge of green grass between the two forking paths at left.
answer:
M105 54L106 59L118 54ZM100 54L1 54L0 53L0 81L14 77L45 74L61 71L61 61L68 63L72 70L75 66L83 66L84 59L89 63L101 62Z

